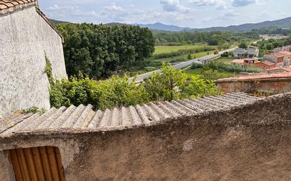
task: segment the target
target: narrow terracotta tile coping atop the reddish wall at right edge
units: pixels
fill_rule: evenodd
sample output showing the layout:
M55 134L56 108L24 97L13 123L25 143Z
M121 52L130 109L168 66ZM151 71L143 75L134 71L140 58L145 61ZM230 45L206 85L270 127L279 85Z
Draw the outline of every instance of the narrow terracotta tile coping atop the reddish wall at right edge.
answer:
M273 74L259 74L247 75L240 77L230 77L225 79L215 80L215 82L238 82L246 80L270 80L270 79L291 79L291 73L273 73Z

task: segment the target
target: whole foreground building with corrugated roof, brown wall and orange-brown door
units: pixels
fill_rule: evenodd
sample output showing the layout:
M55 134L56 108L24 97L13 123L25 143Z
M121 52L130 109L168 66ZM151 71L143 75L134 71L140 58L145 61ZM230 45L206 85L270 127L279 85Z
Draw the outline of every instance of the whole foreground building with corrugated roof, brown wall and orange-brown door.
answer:
M0 180L290 180L290 99L232 93L0 119Z

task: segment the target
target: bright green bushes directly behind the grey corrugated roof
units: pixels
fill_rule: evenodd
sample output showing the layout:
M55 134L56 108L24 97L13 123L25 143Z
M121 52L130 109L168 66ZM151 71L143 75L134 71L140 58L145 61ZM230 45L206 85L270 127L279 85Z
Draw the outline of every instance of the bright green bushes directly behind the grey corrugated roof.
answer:
M162 74L154 74L140 84L130 83L128 76L114 76L110 80L97 82L79 75L70 80L55 81L50 100L52 106L57 108L92 104L97 109L105 109L214 94L218 94L218 90L213 81L187 78L181 70L163 64Z

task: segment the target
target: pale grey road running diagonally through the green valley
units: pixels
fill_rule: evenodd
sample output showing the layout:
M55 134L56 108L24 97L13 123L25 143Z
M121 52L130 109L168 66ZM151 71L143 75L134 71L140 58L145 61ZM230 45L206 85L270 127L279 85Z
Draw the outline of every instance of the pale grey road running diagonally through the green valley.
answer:
M188 67L190 65L192 65L192 63L201 63L201 60L206 60L206 59L210 59L210 58L215 58L217 57L218 55L220 54L223 54L225 51L234 51L234 49L236 49L237 47L234 47L232 49L226 49L224 51L220 51L219 54L210 54L208 56L203 56L203 57L200 57L200 58L195 58L193 60L190 60L190 61L184 61L184 62L181 62L181 63L177 63L175 65L173 65L174 68L178 69L178 68L185 68L185 67ZM138 75L136 77L136 82L141 82L141 80L144 80L150 76L153 75L153 73L160 73L161 70L155 70L155 71L152 71L152 72L149 72L149 73L144 73L142 75ZM133 77L129 78L129 82L132 82L133 81Z

